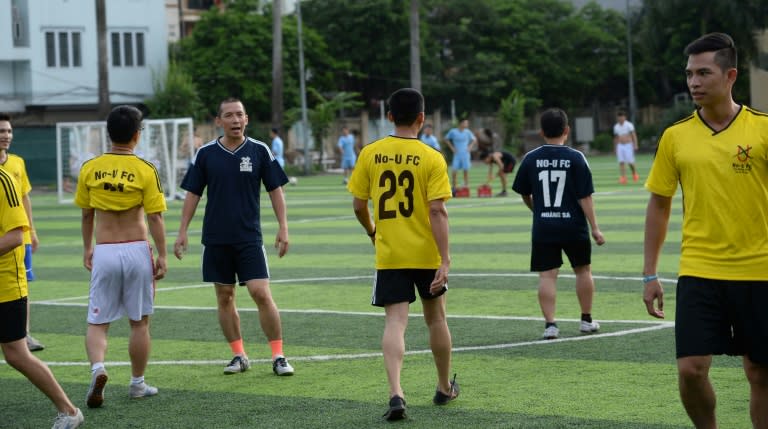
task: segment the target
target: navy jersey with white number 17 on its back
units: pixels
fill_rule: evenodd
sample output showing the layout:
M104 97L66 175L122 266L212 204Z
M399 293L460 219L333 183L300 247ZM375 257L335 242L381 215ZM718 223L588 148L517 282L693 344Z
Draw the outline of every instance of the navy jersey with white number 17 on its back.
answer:
M595 192L584 154L567 146L544 145L528 152L512 190L533 196L534 242L589 240L579 200Z

